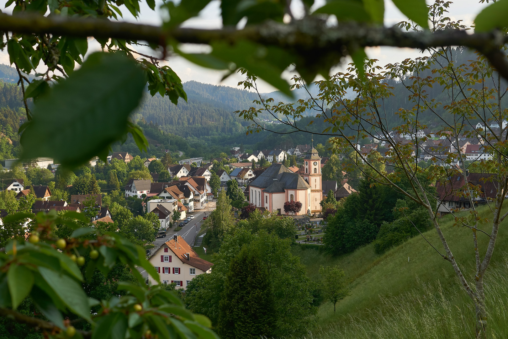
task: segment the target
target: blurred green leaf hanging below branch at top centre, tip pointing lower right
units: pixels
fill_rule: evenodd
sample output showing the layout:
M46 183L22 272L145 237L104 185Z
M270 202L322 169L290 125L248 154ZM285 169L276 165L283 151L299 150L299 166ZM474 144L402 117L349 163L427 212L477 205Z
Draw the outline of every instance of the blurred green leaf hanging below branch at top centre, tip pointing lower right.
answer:
M293 63L294 57L279 47L265 47L246 40L235 45L225 41L211 43L212 55L225 61L233 61L236 67L243 67L256 74L282 93L293 97L287 81L280 74Z

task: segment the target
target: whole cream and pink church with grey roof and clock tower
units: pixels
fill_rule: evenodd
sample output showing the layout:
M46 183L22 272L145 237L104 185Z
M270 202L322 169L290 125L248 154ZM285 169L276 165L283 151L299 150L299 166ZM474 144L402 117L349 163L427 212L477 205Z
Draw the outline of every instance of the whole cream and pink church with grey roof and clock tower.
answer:
M280 163L273 164L247 186L249 202L284 214L284 203L295 200L302 203L297 215L320 213L321 158L314 147L308 150L300 172L294 173Z

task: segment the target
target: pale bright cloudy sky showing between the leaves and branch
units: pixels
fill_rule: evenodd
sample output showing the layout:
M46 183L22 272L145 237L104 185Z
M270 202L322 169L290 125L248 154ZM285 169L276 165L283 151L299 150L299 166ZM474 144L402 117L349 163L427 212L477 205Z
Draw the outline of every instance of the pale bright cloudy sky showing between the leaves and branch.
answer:
M8 8L4 8L6 3L7 3L6 0L0 0L0 8L2 9L2 12L11 14L14 4L9 6ZM431 2L427 0L427 4L430 3ZM157 25L161 24L162 22L161 19L162 13L158 9L161 4L162 1L157 0L155 11L152 11L148 8L146 3L142 3L141 15L138 19L132 16L129 13L129 11L124 7L124 5L120 6L120 9L122 10L122 13L125 13L123 18L123 20L125 21ZM213 0L211 3L208 4L208 6L206 6L200 12L198 17L187 20L186 22L184 22L183 25L185 27L206 28L206 29L221 28L222 22L220 19L219 4L220 2L218 0ZM315 8L321 7L324 4L325 0L315 0L314 7ZM448 16L454 21L464 20L463 21L464 24L470 25L474 17L486 6L487 4L480 4L479 0L455 0L455 3L450 6ZM299 15L301 16L302 13L301 0L293 0L291 8L295 17L298 18ZM387 0L385 8L385 25L392 26L393 24L400 22L402 20L407 20L407 18L393 5L391 0ZM99 43L90 38L88 53L97 51L99 49L100 49ZM182 50L186 52L198 52L206 50L206 46L183 45ZM138 51L154 55L154 52L150 51L149 49L143 50L139 49ZM396 47L370 47L366 49L366 52L369 58L378 59L379 60L378 65L380 66L397 63L408 57L418 57L422 55L421 52L416 49L396 48ZM331 70L331 73L336 73L344 70L348 62L350 61L345 60L345 62L342 65L334 67ZM9 64L9 55L7 54L6 50L0 51L0 64ZM205 69L203 67L190 63L190 61L187 61L186 59L180 56L171 56L168 58L167 61L162 61L161 64L169 65L178 74L182 82L196 80L203 83L237 87L238 82L244 80L242 76L234 74L228 77L227 79L221 81L224 75L224 71ZM287 70L282 74L282 77L289 80L293 74L294 72ZM272 87L271 85L269 85L264 81L259 81L258 87L262 93L275 90L274 87Z

